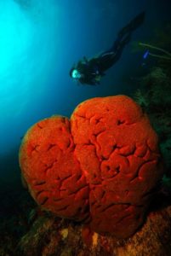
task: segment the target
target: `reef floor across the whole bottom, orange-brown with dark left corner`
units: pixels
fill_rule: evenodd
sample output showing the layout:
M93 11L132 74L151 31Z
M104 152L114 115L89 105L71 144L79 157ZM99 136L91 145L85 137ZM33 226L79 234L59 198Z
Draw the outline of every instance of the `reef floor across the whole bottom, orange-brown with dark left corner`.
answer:
M14 201L8 200L11 194ZM11 191L1 201L5 201L7 212L0 222L0 255L168 256L171 250L171 207L161 196L156 196L145 224L134 236L116 239L89 232L81 223L40 212L27 191Z

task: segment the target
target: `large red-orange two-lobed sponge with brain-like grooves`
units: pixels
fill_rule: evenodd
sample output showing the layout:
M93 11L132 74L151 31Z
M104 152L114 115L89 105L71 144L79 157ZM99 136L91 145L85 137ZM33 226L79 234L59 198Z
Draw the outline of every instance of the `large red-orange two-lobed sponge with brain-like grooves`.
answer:
M157 134L128 96L82 102L33 125L20 147L32 197L63 218L125 238L143 223L162 163Z

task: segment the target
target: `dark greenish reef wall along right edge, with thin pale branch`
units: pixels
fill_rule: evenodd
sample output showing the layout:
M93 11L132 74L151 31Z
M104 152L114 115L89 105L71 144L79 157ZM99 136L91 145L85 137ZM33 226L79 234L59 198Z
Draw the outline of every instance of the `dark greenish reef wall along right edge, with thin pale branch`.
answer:
M133 98L144 108L157 131L165 171L171 177L171 22L155 28L148 42L135 43L134 49L149 49L151 67L139 78ZM139 48L138 48L139 47ZM137 81L136 81L137 82Z

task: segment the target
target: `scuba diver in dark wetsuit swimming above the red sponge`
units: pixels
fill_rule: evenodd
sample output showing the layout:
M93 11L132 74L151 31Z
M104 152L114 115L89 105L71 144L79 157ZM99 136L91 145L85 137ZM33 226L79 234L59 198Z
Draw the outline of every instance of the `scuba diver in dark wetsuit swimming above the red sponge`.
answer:
M71 79L77 80L81 84L100 84L100 79L105 75L105 71L119 60L124 46L130 41L131 33L143 23L144 19L145 12L142 12L127 26L124 26L117 33L117 39L111 49L89 60L84 56L83 60L78 61L77 66L71 68Z

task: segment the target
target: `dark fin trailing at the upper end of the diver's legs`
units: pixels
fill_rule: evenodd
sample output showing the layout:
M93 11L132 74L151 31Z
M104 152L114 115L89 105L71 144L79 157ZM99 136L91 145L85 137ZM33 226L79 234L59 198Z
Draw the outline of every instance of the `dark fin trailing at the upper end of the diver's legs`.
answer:
M124 26L119 32L118 36L122 37L126 33L133 32L136 28L138 28L145 20L145 11L137 15L133 20L131 20L127 26Z

